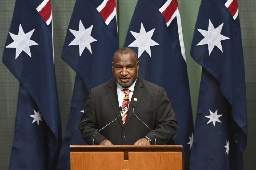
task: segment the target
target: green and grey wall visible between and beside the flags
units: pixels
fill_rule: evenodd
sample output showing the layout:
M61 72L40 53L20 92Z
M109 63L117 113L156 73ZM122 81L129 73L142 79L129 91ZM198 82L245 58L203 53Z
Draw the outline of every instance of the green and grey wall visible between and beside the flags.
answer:
M127 29L137 0L116 0L118 6L119 45L123 46ZM0 54L2 56L5 40L13 15L15 0L0 1ZM61 50L67 32L67 26L74 8L75 0L51 0L53 12L53 33L55 71L59 94L63 137L69 114L74 87L75 72L61 59ZM190 56L190 46L201 0L178 0L181 14L183 37L187 57L193 118L197 110L201 66ZM238 0L241 23L248 116L248 142L243 154L244 169L256 167L256 2ZM2 59L2 57L1 57ZM19 83L10 71L0 62L0 169L8 169L14 134Z

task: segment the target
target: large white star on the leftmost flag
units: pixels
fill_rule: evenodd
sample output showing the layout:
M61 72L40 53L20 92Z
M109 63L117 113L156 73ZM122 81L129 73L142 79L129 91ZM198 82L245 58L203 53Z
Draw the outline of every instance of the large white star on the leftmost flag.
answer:
M19 54L24 51L31 57L30 48L31 45L38 45L35 41L30 40L30 37L32 36L35 29L32 29L28 33L24 33L21 24L19 24L19 33L18 35L15 35L13 33L10 33L11 38L13 39L13 42L6 46L6 48L16 48L16 54L15 59L19 56Z

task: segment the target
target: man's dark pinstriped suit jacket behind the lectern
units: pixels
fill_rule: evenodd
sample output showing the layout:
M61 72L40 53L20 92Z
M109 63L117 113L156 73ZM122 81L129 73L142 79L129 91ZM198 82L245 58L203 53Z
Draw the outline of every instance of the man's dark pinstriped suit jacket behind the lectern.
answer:
M133 105L136 116L154 130L157 144L167 143L177 133L178 123L165 90L138 77L125 125L120 116L95 136L95 144L108 139L114 145L133 145L146 135L153 143L154 134L133 115ZM79 124L82 138L91 144L94 134L119 114L117 85L114 79L93 88Z

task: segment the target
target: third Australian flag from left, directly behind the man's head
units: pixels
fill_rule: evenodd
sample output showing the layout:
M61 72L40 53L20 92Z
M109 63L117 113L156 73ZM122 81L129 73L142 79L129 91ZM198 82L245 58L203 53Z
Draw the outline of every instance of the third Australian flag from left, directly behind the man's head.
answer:
M177 0L138 0L124 46L138 55L139 77L165 89L179 123L173 140L183 146L188 167L193 118Z

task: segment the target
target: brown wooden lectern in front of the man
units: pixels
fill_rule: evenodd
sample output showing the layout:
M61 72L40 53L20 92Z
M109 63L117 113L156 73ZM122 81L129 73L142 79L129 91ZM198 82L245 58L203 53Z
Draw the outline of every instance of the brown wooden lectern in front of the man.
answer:
M182 170L182 145L71 145L71 170Z

